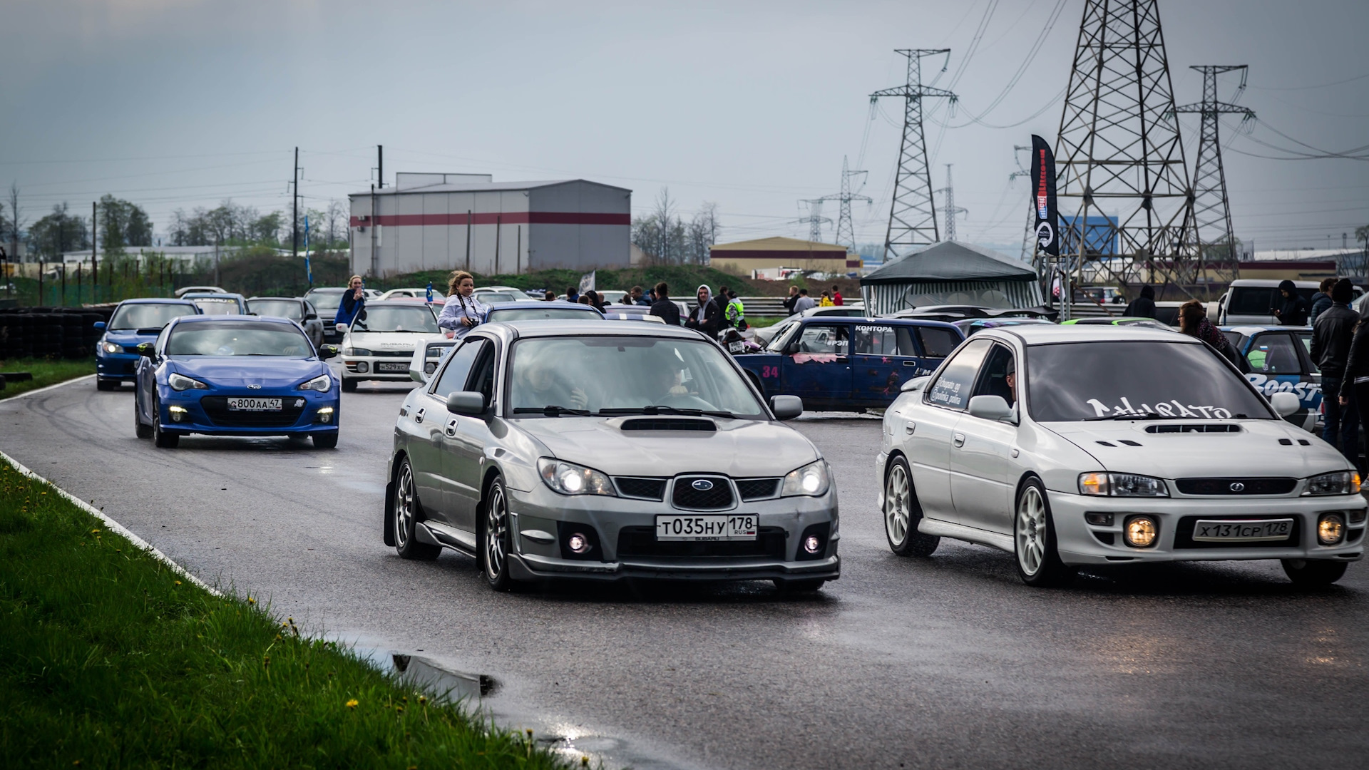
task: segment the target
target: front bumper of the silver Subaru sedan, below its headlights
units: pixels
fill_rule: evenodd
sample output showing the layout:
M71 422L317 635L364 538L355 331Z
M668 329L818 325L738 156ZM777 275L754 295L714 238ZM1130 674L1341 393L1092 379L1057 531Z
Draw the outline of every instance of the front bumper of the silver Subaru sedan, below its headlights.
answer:
M735 492L735 490L734 490ZM686 511L665 500L606 496L564 496L538 485L531 492L508 490L511 514L511 574L517 580L623 578L657 580L836 580L841 541L836 490L820 497L778 497L738 501L723 511ZM756 541L657 543L656 517L756 514ZM563 534L589 527L597 547L586 559L565 558ZM554 536L528 537L538 532ZM821 533L816 555L799 558L801 540ZM590 534L590 533L586 533Z

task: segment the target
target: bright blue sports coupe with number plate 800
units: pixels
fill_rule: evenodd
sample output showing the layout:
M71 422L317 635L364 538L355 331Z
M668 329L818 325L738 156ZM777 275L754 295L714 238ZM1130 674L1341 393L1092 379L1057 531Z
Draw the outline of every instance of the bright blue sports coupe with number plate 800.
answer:
M133 422L138 438L292 436L337 447L337 378L304 332L283 318L185 315L138 345Z

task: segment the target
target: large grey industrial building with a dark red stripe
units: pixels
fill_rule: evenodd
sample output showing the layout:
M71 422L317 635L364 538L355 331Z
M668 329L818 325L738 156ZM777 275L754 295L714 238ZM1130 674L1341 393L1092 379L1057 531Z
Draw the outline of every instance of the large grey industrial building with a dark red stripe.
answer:
M632 190L489 174L396 174L393 188L348 196L352 271L526 273L627 267Z

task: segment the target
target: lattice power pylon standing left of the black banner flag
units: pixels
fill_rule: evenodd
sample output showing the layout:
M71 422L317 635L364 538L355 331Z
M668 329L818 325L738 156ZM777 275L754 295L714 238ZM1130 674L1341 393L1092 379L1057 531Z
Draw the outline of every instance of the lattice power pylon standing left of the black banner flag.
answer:
M923 133L923 99L942 97L956 101L956 95L923 85L923 56L950 55L950 48L899 48L908 56L908 82L869 95L871 101L883 96L904 99L904 140L898 151L898 174L894 177L894 201L884 234L884 259L898 256L909 247L941 240L936 230L936 203L932 199L931 170L927 167L927 137ZM942 67L945 70L945 67Z

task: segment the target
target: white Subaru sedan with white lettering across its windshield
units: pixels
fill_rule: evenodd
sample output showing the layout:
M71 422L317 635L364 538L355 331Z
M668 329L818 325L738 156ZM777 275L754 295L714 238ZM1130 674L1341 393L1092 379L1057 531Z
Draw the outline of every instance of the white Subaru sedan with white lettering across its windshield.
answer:
M1012 326L967 340L884 414L890 548L1002 548L1029 585L1083 564L1280 559L1295 584L1364 556L1359 474L1197 338Z

